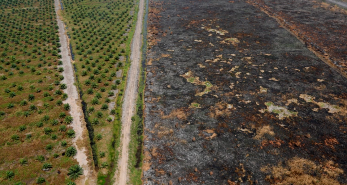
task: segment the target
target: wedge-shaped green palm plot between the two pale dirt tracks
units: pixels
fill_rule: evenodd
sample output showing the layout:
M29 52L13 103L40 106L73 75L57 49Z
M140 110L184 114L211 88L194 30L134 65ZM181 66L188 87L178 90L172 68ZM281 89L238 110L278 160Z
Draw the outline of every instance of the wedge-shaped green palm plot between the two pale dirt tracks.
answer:
M64 15L68 20L79 86L87 103L85 114L92 127L97 128L104 122L112 122L112 115L116 114L115 108L109 110L108 103L116 100L115 92L122 82L117 78L117 71L124 67L121 60L126 55L124 43L128 39L126 33L131 28L128 21L133 19L130 9L134 3L131 0L96 0L94 5L85 6L81 2L64 0ZM108 142L102 141L100 133L95 133L92 139L96 143ZM108 163L98 162L98 158L108 154L97 151L96 145L93 149L93 156L97 155L95 164L107 168Z

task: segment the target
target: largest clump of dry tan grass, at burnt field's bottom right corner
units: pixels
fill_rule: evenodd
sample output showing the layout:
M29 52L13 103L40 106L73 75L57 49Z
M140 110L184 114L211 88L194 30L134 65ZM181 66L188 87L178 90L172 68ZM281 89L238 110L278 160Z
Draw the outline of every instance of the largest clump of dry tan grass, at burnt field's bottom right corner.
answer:
M271 173L266 177L271 184L339 184L336 177L344 173L333 161L316 165L311 160L299 157L289 159L285 166L264 166L260 170Z

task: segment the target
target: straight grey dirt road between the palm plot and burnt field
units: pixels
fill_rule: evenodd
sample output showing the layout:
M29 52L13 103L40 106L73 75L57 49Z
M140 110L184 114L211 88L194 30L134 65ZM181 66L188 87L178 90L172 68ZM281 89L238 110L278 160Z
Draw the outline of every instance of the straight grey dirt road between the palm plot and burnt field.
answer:
M132 52L130 60L132 61L129 72L127 86L124 95L124 103L122 107L122 130L121 130L121 156L118 161L118 169L115 173L115 184L126 184L128 172L128 158L129 158L129 141L130 141L130 126L131 117L135 113L135 99L137 96L139 64L141 56L142 45L142 21L144 13L144 0L140 0L135 33L132 41Z

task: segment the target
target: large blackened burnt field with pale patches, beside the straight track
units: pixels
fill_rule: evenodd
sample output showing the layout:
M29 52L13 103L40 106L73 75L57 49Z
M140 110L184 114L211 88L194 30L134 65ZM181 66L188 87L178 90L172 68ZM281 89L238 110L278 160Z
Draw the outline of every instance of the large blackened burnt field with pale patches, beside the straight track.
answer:
M149 6L145 184L347 183L346 78L245 1Z

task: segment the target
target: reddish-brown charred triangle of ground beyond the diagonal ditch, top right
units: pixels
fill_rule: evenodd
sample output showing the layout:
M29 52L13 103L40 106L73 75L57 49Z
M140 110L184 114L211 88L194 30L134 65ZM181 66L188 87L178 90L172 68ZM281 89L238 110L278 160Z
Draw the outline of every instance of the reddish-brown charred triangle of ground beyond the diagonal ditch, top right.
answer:
M248 0L347 74L347 10L320 0Z

